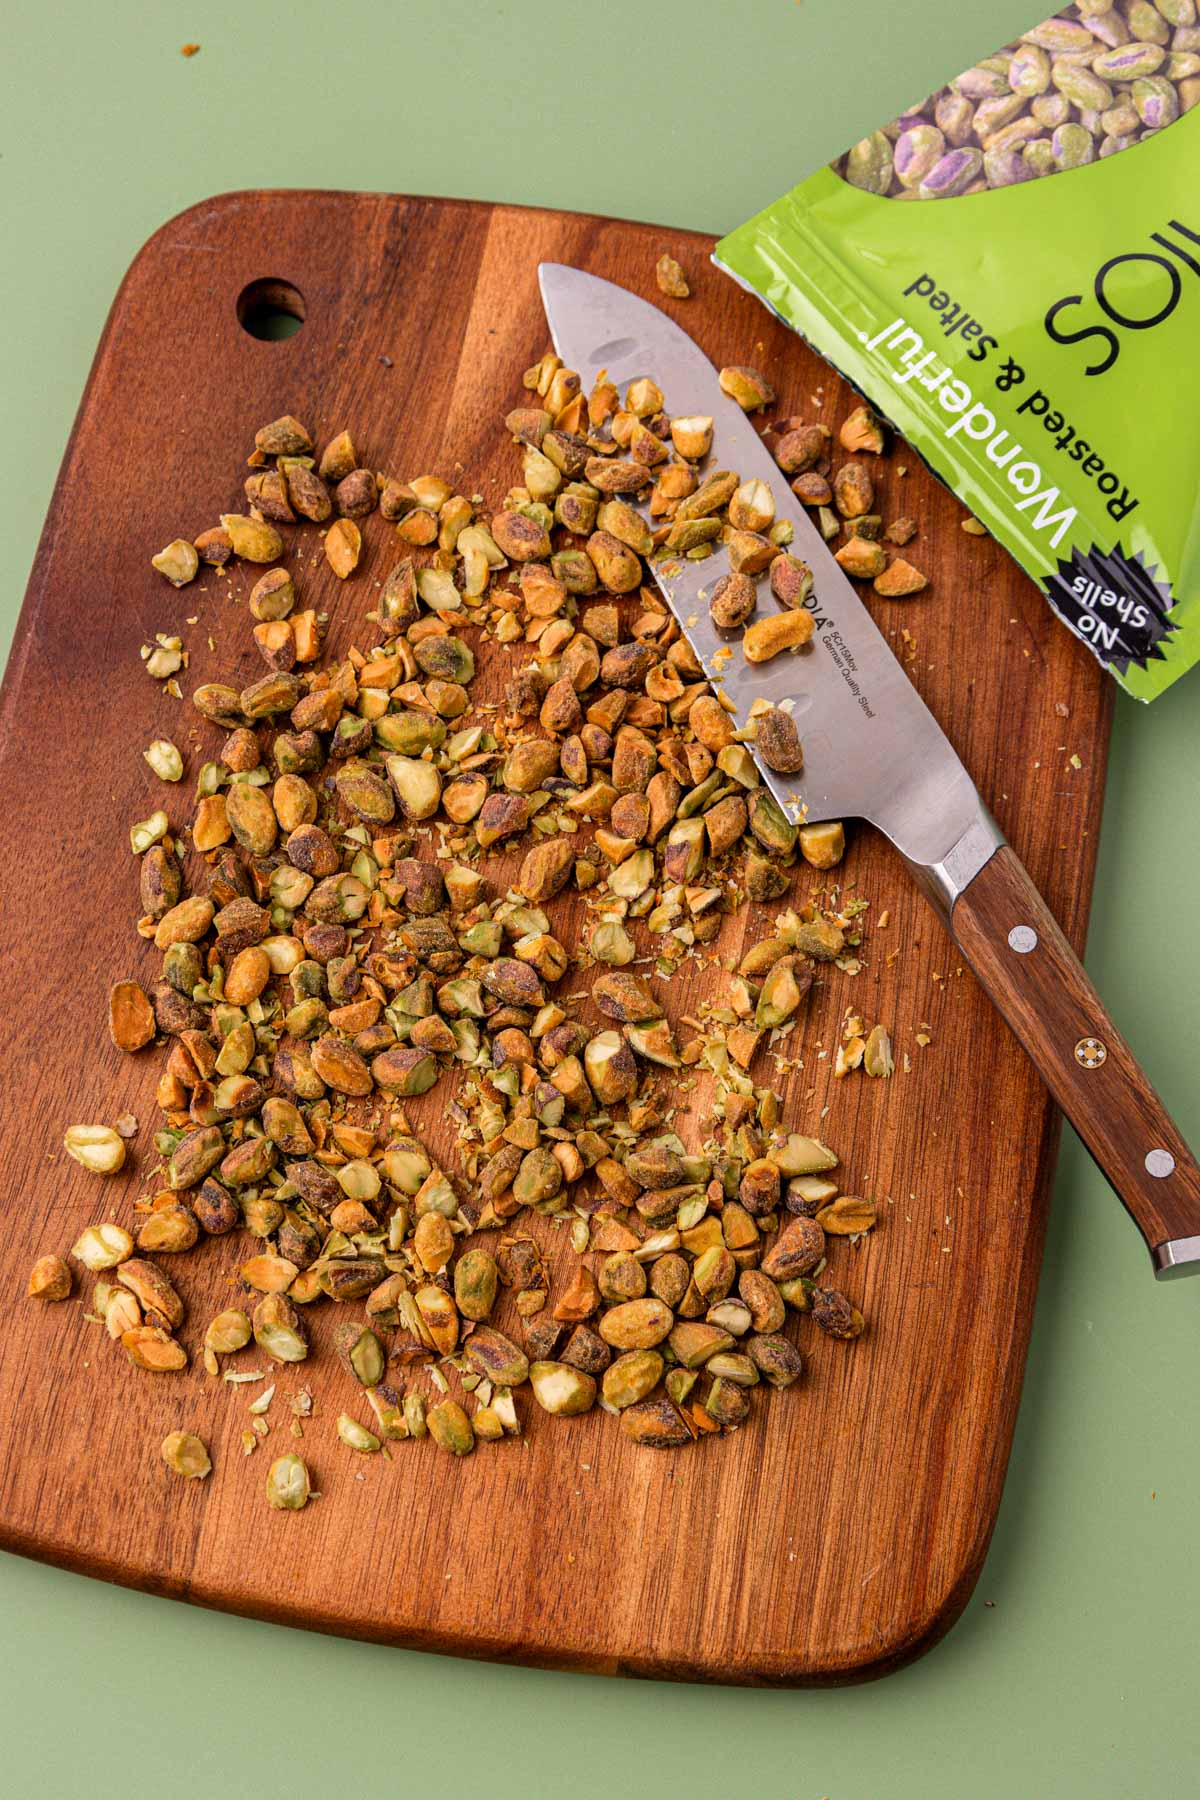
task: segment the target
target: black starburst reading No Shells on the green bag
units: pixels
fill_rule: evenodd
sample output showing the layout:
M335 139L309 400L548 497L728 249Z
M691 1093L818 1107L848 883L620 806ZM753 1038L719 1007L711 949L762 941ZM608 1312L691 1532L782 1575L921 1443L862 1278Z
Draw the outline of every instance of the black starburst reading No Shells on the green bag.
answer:
M1146 565L1141 551L1126 556L1119 544L1112 551L1092 545L1072 551L1067 562L1060 558L1045 592L1088 650L1124 675L1130 662L1144 670L1166 661L1164 641L1177 630L1168 617L1175 607L1171 583L1157 576L1157 563Z

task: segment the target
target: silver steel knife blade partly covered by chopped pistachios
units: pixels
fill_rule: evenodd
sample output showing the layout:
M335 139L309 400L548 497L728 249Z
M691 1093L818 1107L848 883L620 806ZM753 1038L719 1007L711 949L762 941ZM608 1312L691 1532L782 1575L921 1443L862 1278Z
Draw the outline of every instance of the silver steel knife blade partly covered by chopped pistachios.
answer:
M781 776L759 763L779 805L790 817L813 823L869 819L914 864L930 893L939 886L932 871L948 860L964 886L1004 839L766 445L721 392L709 358L657 306L612 281L561 263L543 263L538 279L556 353L579 371L585 392L601 371L621 389L637 376L653 376L673 414L711 416L709 466L766 481L775 517L793 529L792 549L813 571L811 648L747 664L736 634L718 630L709 614L707 594L720 562L651 562L655 581L705 673L734 704L738 724L747 724L756 698L784 702L792 713L804 743L802 774Z

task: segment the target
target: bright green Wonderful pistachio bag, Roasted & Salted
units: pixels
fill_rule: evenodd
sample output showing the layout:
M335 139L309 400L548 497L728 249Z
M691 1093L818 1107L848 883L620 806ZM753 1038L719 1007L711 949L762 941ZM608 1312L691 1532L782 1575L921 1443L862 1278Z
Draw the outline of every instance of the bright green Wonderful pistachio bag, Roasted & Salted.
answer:
M1078 0L714 261L862 389L1132 695L1200 659L1196 0Z

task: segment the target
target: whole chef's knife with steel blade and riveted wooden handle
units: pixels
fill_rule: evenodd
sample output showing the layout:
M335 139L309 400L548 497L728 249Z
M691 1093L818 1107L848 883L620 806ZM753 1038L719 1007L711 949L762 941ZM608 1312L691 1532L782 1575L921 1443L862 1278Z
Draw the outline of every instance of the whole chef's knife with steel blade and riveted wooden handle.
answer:
M579 373L585 392L601 371L617 387L651 376L671 414L711 416L707 466L766 481L777 517L793 527L792 549L813 571L811 646L750 664L738 635L720 632L709 616L705 596L721 562L651 562L738 722L747 724L757 698L786 702L804 770L781 776L759 763L775 799L792 819L867 819L892 841L1132 1213L1155 1273L1200 1271L1200 1168L1191 1150L754 425L721 392L703 351L657 306L561 263L543 263L538 274L554 349ZM765 608L774 599L763 585Z

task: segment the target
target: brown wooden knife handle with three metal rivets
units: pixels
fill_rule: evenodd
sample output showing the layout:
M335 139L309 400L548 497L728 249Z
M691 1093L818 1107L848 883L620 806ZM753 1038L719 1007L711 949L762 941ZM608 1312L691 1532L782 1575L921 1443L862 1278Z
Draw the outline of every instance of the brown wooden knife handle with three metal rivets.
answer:
M1155 1273L1200 1273L1200 1168L1004 844L957 896L950 931L1150 1246Z

